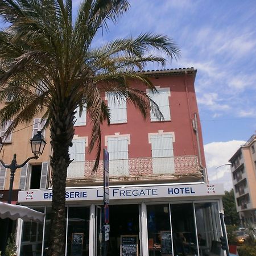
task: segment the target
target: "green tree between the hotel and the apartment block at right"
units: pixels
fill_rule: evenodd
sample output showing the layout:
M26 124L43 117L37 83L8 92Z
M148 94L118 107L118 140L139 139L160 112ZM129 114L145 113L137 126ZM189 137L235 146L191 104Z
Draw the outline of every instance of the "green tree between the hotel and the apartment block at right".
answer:
M237 225L240 222L239 214L236 209L236 201L233 188L222 197L225 217L229 217L232 225Z

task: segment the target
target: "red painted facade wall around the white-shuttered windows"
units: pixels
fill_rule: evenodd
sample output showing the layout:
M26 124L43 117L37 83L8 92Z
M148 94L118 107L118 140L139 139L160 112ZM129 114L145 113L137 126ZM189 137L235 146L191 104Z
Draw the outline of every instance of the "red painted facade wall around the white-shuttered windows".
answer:
M120 133L120 135L130 134L129 158L151 157L151 144L148 143L148 134L158 133L159 130L163 130L163 132L174 132L175 134L174 156L199 155L196 133L192 126L192 119L194 119L194 114L196 113L201 163L205 167L203 139L194 86L195 76L196 71L189 75L185 72L170 72L170 74L164 76L161 73L159 75L156 73L155 76L152 76L150 78L152 84L160 86L160 88L170 88L171 121L151 122L150 117L145 120L139 110L127 102L127 123L111 124L109 126L104 123L102 125L102 148L106 148L104 145L105 136L114 135L115 133ZM146 87L139 82L133 81L133 85L146 90ZM105 93L103 97L105 98ZM90 120L87 116L86 126L76 127L75 134L79 137L86 136L90 141L91 129L92 125L90 125ZM86 147L87 160L93 160L95 155L95 150L88 154L88 147Z

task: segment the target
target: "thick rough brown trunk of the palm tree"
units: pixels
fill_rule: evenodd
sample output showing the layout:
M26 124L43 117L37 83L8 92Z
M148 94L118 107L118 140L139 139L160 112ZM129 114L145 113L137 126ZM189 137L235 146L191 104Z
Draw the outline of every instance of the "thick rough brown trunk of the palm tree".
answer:
M70 163L68 154L74 135L73 111L65 102L53 105L51 112L51 158L52 167L52 218L49 237L49 256L65 255L65 187L67 168Z

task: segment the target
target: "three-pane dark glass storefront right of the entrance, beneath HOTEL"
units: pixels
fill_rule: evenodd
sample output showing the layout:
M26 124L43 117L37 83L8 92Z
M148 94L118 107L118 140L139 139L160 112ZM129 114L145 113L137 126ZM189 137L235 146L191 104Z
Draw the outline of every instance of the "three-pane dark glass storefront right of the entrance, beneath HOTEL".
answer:
M223 255L217 202L170 204L170 210L147 205L149 255Z

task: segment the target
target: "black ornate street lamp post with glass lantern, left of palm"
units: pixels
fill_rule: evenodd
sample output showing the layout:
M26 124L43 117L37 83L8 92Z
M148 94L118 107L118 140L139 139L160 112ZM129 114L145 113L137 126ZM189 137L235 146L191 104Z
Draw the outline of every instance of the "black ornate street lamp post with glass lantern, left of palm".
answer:
M13 181L14 181L15 171L18 168L22 168L29 160L38 159L39 156L43 154L44 147L46 146L46 141L44 141L44 137L43 137L41 131L38 131L38 133L34 135L34 137L30 140L30 144L31 144L31 151L34 154L34 156L27 158L22 164L17 164L16 154L13 155L13 160L11 161L10 164L5 164L3 162L3 160L0 159L1 164L5 168L9 168L11 171L10 186L9 186L8 201L7 201L8 204L11 203L11 197L13 195ZM4 143L2 141L2 138L0 137L0 147L1 147L0 152L2 151L3 145L4 145ZM6 224L5 247L2 251L3 256L5 255L5 249L6 249L6 245L7 245L8 230L9 230L9 220L7 220L7 224Z

